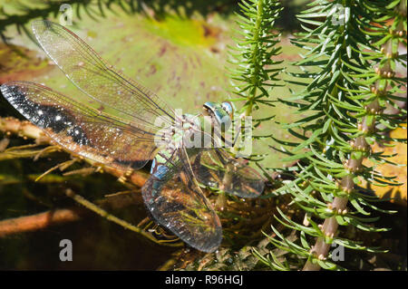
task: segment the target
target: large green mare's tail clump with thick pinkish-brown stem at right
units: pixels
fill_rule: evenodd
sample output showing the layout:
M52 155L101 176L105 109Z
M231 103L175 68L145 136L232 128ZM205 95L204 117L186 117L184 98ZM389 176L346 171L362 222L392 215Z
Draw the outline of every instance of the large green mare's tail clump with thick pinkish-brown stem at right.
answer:
M303 32L292 43L305 53L295 63L298 71L290 73L296 80L288 82L304 89L280 101L307 117L285 127L299 140L287 143L288 159L298 159L290 168L296 180L277 191L290 194L306 217L296 221L278 210L277 220L297 232L297 241L273 227L270 246L286 251L287 257L279 259L272 251L254 254L272 269L344 269L334 262L342 257L336 255L338 246L384 250L342 236L345 226L387 230L374 226L378 217L372 213L384 210L374 206L378 199L364 184L374 189L400 185L375 169L391 163L391 156L373 152L371 146L406 141L388 134L406 122L406 109L397 103L406 101L401 93L407 80L395 73L397 65L406 69L406 53L398 51L400 45L406 47L406 0L316 0L298 19ZM397 112L386 113L389 106ZM293 257L297 262L291 262Z

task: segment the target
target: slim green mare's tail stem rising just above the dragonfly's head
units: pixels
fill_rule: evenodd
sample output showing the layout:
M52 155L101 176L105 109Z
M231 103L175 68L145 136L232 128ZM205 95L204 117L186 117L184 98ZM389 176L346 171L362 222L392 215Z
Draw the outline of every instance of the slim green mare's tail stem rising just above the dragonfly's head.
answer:
M228 46L227 70L235 95L231 101L244 101L239 112L241 116L252 117L254 111L274 106L276 100L269 96L274 87L282 85L278 75L283 70L279 65L283 61L276 60L281 53L280 34L273 30L282 7L277 0L243 0L239 6L236 45ZM253 119L253 129L273 119L274 115Z

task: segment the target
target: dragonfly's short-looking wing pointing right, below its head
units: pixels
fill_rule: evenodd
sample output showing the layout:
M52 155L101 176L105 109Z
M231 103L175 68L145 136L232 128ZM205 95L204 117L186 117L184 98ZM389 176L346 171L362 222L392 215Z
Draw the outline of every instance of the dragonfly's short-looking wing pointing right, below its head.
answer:
M223 149L202 151L192 168L201 184L238 197L258 197L265 187L262 176L248 167L248 161L234 159Z

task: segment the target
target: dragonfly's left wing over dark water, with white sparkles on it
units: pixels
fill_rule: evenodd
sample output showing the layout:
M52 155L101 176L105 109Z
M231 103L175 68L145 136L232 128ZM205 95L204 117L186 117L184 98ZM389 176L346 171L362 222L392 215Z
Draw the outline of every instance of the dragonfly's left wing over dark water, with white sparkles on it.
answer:
M7 82L5 99L65 149L118 169L140 169L151 159L154 136L33 82Z

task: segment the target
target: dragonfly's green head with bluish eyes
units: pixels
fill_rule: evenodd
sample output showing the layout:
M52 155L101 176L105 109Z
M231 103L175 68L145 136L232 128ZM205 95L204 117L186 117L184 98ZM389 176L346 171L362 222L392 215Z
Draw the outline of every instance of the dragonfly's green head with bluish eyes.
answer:
M229 101L224 102L212 102L207 101L203 105L204 115L209 115L212 122L218 125L221 130L228 130L231 126L232 115L234 113L234 107Z

